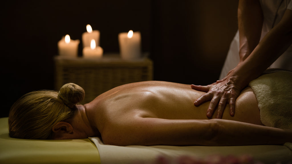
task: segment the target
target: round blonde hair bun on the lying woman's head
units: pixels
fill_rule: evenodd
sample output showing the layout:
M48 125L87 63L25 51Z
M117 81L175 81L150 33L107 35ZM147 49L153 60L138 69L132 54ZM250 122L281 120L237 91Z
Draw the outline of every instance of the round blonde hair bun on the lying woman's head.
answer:
M70 108L81 102L85 97L84 89L77 84L67 83L60 88L58 97Z

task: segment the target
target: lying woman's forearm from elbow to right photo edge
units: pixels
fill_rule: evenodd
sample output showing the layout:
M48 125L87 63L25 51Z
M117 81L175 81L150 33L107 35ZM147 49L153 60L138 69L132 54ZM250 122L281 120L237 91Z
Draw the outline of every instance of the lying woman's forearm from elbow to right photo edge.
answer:
M216 120L218 133L215 146L284 144L292 142L292 130L271 128L229 120Z

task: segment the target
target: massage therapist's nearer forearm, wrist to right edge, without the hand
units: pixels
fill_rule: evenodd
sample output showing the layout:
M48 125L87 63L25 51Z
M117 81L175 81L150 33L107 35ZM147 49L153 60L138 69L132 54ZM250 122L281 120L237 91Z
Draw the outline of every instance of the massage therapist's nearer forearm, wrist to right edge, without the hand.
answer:
M266 34L244 62L235 67L232 79L240 89L257 78L292 44L292 11Z

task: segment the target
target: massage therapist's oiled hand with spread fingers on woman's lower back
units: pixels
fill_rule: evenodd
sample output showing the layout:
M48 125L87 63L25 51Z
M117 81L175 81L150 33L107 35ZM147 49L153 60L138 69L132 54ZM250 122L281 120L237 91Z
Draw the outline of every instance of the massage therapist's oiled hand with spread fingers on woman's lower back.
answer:
M199 97L194 105L200 105L201 103L211 100L210 105L207 109L207 116L211 117L214 113L215 108L218 105L218 113L216 118L221 118L226 104L230 106L230 115L234 116L235 111L235 100L240 94L240 89L237 87L229 76L229 74L220 81L210 84L208 86L196 86L191 85L192 89L207 92L206 94Z

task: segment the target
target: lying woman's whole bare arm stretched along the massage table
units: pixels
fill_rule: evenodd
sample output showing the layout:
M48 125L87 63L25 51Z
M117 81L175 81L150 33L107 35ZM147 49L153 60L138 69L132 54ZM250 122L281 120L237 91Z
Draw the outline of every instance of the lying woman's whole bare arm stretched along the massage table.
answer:
M105 144L127 145L255 145L292 141L292 131L238 121L136 118L109 124Z

